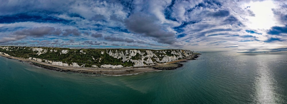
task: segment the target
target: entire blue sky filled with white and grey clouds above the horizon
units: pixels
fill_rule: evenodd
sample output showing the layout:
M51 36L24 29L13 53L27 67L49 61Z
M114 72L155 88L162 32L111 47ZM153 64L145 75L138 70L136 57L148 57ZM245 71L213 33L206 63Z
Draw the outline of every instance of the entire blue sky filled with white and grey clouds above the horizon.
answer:
M1 46L287 51L286 0L0 0Z

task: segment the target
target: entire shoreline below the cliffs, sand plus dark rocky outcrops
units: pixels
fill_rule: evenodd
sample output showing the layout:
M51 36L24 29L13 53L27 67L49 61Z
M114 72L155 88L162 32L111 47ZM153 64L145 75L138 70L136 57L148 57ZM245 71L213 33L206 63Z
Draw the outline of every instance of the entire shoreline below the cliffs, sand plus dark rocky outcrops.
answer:
M124 68L86 68L86 67L73 67L73 66L58 66L58 65L53 65L53 64L48 64L44 62L38 62L34 60L28 60L24 58L18 58L18 57L13 57L13 56L5 56L0 54L0 56L9 58L9 59L16 59L16 60L22 60L25 61L29 64L33 64L34 66L38 66L44 69L49 69L49 70L55 70L55 71L60 71L60 72L72 72L72 73L92 73L92 74L108 74L108 75L130 75L130 74L138 74L142 72L151 72L151 71L161 71L161 70L172 70L179 68L183 66L183 64L180 64L180 62L186 62L186 60L196 60L195 58L199 57L197 55L191 55L188 58L185 59L180 59L180 60L175 60L172 62L166 62L162 64L157 64L157 65L150 65L150 66L138 66L138 67L124 67ZM170 68L169 64L178 64L179 66L172 66ZM157 68L157 66L160 66L161 68Z

